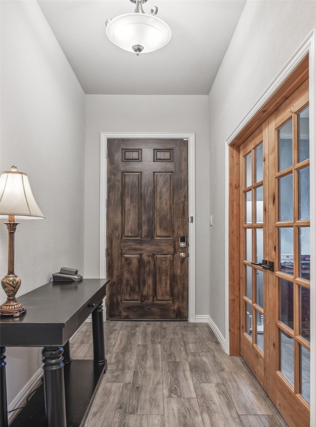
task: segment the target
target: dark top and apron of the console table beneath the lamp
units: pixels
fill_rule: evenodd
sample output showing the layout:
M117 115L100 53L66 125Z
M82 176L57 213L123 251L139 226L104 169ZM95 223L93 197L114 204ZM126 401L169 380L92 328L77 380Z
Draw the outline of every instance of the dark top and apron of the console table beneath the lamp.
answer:
M49 282L17 300L19 317L0 317L1 346L62 346L106 295L110 279Z

